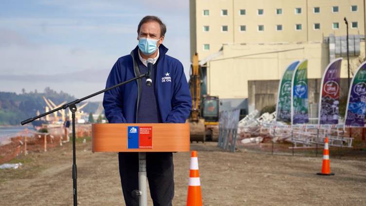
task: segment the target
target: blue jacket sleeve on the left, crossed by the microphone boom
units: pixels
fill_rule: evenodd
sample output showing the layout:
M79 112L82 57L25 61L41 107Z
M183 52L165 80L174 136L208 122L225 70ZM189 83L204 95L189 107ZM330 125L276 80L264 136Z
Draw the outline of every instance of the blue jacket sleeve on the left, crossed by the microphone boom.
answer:
M107 79L106 88L114 86L122 80L121 68L118 61L114 64ZM104 93L103 107L109 123L126 123L123 115L123 86Z

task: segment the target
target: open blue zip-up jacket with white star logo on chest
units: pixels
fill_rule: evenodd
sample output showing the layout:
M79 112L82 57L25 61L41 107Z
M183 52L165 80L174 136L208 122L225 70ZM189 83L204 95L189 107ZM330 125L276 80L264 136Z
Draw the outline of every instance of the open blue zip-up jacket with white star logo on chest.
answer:
M168 49L159 46L155 96L163 123L184 123L192 108L192 99L185 78L182 63L165 55ZM138 46L130 55L120 57L114 64L107 79L106 88L140 75L137 60ZM170 78L169 78L170 77ZM138 79L104 93L103 107L109 123L136 123L141 96Z

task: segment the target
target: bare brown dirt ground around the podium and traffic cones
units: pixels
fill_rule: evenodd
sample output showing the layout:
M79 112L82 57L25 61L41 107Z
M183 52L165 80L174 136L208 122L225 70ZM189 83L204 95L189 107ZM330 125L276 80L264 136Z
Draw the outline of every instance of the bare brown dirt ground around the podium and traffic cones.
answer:
M125 205L116 153L92 153L91 141L77 140L79 205ZM322 158L257 152L222 151L217 143L194 143L198 150L205 206L357 206L366 205L366 157L332 158L335 176L318 176ZM174 154L175 197L184 206L189 177L189 152ZM1 206L72 205L72 145L31 152L11 161L20 169L0 170ZM152 205L148 198L148 204Z

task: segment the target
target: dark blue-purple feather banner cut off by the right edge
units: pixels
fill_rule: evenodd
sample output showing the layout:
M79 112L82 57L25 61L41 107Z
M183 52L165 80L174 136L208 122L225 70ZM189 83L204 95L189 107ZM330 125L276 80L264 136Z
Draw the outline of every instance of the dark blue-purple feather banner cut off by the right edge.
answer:
M366 114L366 62L362 63L353 76L348 92L346 107L347 126L364 127Z

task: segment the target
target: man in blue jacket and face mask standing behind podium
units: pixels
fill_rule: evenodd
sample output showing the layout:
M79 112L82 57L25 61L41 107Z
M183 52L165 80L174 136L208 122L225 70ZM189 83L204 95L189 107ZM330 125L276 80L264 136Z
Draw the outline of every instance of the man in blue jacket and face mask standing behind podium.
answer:
M106 88L147 72L153 58L152 86L146 78L136 80L104 94L103 107L109 123L184 123L191 110L191 95L183 65L166 55L163 45L166 27L155 16L144 17L137 29L138 46L120 57L107 79ZM119 152L119 172L127 206L138 206L131 192L138 189L138 153ZM173 155L146 152L146 172L154 206L170 206L174 197Z

